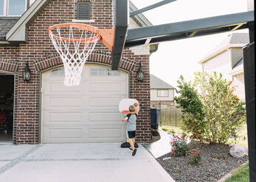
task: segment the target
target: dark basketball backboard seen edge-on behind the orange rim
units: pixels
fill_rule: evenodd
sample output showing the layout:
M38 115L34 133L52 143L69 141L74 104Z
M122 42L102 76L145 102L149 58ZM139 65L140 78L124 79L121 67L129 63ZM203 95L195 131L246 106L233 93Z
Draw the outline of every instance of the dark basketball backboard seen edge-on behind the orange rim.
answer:
M128 0L116 0L114 45L111 53L111 69L118 70L128 30Z

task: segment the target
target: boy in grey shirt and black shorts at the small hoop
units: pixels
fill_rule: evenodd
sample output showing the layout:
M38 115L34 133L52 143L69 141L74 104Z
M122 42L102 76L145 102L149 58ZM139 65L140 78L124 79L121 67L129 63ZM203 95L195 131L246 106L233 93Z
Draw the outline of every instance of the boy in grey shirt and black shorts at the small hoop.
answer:
M129 106L129 111L131 114L127 114L122 121L127 120L127 133L128 133L128 140L131 145L130 150L133 150L132 156L136 154L136 148L134 148L135 144L135 136L136 136L136 119L138 117L139 106L138 103L134 103L134 105Z

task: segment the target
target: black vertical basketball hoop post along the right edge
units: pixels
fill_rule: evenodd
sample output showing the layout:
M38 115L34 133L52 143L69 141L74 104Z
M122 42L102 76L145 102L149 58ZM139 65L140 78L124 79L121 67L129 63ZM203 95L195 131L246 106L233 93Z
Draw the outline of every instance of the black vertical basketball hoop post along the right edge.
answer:
M247 0L248 11L254 10L254 1ZM246 92L246 118L249 148L249 179L256 182L255 131L255 22L248 22L249 44L243 48L243 74Z

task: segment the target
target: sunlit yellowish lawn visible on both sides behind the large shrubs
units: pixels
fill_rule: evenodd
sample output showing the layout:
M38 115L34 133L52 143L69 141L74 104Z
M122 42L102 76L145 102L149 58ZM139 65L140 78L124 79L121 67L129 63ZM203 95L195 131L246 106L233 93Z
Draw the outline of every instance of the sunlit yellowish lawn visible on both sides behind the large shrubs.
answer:
M161 125L159 128L162 128L163 131L182 134L181 127L173 125ZM238 132L239 136L237 141L234 139L229 139L229 145L238 144L248 148L248 136L247 136L247 125L243 125L241 131Z

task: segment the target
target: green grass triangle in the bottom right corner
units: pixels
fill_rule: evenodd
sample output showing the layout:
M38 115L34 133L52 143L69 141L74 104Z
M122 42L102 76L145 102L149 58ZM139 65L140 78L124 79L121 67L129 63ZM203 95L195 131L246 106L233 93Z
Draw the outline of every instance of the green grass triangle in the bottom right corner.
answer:
M230 178L227 178L225 182L248 182L249 181L249 164L241 167L240 170L235 172Z

